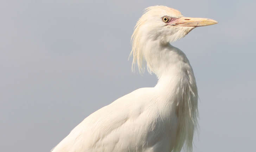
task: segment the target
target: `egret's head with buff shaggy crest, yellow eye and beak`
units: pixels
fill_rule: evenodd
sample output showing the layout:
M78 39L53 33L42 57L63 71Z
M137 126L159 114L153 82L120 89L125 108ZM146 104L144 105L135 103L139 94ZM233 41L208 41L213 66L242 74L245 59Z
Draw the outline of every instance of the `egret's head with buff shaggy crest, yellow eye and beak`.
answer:
M178 10L166 6L151 6L137 21L132 35L133 64L137 62L142 69L143 51L147 42L161 45L183 38L192 29L199 26L216 24L215 20L184 17Z

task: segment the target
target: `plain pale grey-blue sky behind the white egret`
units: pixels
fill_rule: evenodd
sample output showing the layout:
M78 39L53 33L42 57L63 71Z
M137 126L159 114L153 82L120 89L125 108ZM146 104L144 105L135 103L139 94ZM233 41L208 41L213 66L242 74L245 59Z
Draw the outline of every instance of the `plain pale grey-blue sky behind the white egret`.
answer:
M255 0L2 0L1 151L50 151L92 112L153 87L155 75L128 61L135 23L153 5L219 22L172 43L197 80L194 151L255 151Z

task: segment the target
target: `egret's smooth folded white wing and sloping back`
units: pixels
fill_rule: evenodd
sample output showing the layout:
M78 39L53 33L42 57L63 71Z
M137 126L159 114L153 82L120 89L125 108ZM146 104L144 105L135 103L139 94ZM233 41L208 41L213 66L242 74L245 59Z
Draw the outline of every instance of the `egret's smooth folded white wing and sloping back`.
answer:
M145 138L152 123L157 121L153 88L141 88L105 106L77 125L53 152L75 151L136 151L143 145L154 144ZM145 107L147 106L147 107ZM150 113L147 111L151 111ZM152 135L156 138L157 133ZM147 137L146 137L147 136ZM144 140L143 140L144 139ZM154 139L155 140L155 139Z

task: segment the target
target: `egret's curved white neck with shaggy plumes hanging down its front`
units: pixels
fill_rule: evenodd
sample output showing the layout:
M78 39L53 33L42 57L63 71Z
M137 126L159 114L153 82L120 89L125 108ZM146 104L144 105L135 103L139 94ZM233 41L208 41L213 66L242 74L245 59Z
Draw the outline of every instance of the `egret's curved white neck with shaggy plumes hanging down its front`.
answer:
M198 116L197 86L192 67L186 55L169 43L151 42L145 49L147 66L159 79L155 88L164 102L176 106L178 130L174 151L180 151L184 143L187 151L191 151Z

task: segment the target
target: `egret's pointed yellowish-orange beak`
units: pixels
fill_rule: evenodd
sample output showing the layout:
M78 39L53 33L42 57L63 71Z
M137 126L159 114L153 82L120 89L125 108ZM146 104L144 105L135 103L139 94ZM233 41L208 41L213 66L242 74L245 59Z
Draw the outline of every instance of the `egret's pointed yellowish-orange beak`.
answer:
M201 27L217 24L218 22L212 19L180 17L174 20L171 24L176 24L182 27Z

